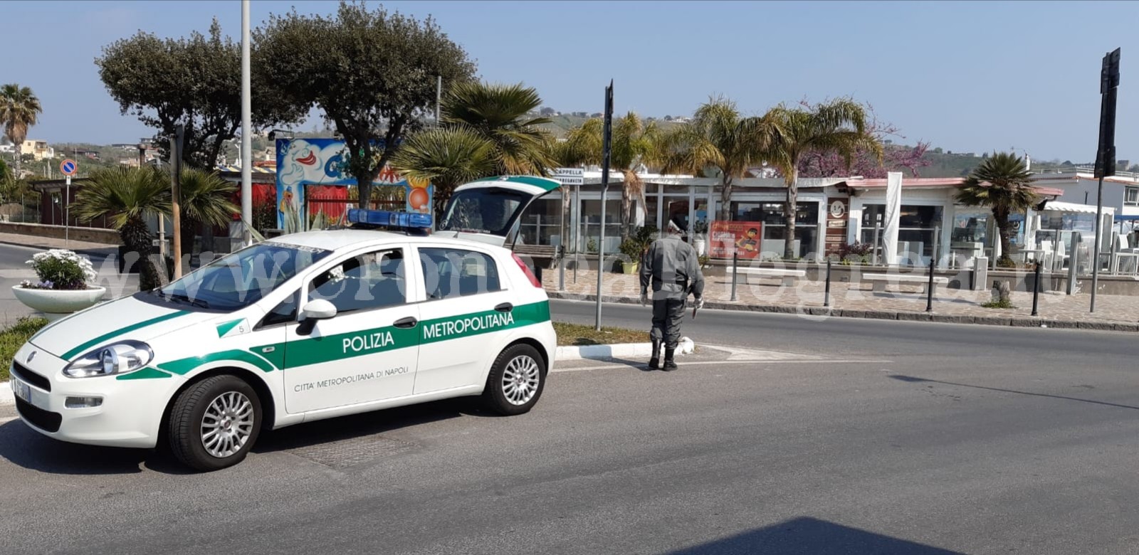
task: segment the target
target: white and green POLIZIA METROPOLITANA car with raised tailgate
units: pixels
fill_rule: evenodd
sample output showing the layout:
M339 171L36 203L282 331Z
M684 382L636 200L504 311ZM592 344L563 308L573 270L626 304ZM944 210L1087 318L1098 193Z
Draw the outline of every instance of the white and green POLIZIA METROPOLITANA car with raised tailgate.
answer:
M256 243L59 320L16 353L19 415L79 444L165 437L181 462L216 470L262 429L473 395L525 413L557 341L546 291L501 243L557 187L469 183L432 234L416 233L426 215L352 210L352 229Z

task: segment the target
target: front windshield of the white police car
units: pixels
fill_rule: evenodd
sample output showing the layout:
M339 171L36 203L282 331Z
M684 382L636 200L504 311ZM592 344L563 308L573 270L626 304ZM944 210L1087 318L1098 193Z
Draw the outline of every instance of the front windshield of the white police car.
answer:
M207 310L249 306L330 251L281 242L261 242L219 258L156 290L170 303Z

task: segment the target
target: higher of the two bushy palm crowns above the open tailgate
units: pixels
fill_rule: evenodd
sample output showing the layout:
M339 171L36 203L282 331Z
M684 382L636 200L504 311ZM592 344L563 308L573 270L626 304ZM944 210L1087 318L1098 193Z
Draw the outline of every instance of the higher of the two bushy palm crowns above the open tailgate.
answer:
M522 83L457 83L442 106L442 123L464 127L491 143L494 167L487 175L546 175L555 164L547 117L532 117L542 99ZM436 192L437 194L437 192Z

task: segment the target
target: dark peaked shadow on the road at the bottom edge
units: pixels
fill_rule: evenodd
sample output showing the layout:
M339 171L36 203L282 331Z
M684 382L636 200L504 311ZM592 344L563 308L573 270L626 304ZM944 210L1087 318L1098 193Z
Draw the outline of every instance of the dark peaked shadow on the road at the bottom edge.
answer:
M875 555L957 555L958 552L891 538L880 533L801 516L737 536L688 547L671 555L728 554L814 555L872 553Z

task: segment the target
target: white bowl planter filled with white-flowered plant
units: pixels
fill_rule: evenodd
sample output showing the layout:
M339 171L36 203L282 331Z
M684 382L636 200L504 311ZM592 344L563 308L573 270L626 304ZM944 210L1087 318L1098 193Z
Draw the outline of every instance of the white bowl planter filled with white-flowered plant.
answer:
M90 285L98 276L91 260L71 250L51 249L27 260L39 282L24 280L11 288L24 305L50 315L63 315L95 306L106 288Z

